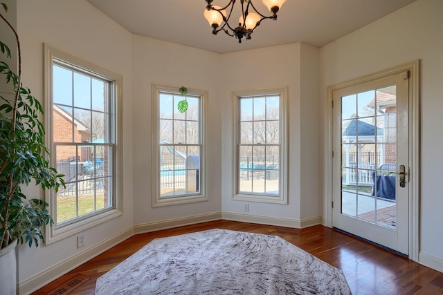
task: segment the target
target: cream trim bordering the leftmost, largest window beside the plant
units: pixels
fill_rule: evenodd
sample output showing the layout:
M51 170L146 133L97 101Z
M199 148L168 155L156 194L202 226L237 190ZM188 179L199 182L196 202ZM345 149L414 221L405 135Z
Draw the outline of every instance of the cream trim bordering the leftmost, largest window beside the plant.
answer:
M67 224L62 227L55 228L55 226L46 226L45 236L46 236L46 244L51 244L53 242L57 242L58 240L62 240L68 236L73 236L74 234L78 234L81 231L89 229L91 227L95 227L102 222L106 222L107 220L111 220L123 214L123 166L122 166L122 158L123 158L123 149L122 149L122 132L121 125L123 120L123 77L117 75L115 73L109 72L109 70L105 70L98 66L95 66L87 61L83 61L82 59L78 59L77 57L73 57L66 53L63 53L60 50L55 48L51 48L47 44L44 44L44 97L46 97L45 103L45 112L44 116L45 126L46 126L46 144L47 146L53 146L53 97L52 97L52 75L53 75L53 59L61 59L63 61L69 62L78 68L84 68L93 73L100 73L100 75L107 77L111 80L115 81L114 87L114 95L115 101L113 110L115 117L115 153L114 153L114 195L113 196L113 208L107 209L102 213L95 213L91 216L82 216L79 218L77 222L73 222ZM51 148L52 149L52 148ZM55 157L51 155L51 166L55 165ZM54 190L46 190L45 200L49 204L49 212L51 216L55 216L55 198L56 193Z

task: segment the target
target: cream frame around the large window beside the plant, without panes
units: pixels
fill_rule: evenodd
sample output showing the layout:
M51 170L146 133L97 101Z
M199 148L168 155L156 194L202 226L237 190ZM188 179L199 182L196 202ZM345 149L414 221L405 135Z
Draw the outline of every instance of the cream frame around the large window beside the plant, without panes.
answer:
M113 146L114 153L111 156L111 178L113 178L113 186L111 188L111 207L107 209L97 210L93 213L88 213L77 218L69 220L69 222L62 222L60 225L46 226L46 244L51 244L57 240L62 240L67 236L78 234L81 231L99 225L102 222L111 220L123 214L123 166L122 166L122 132L121 125L123 120L123 99L122 99L122 85L123 78L120 75L111 73L109 70L105 70L83 61L77 57L73 57L60 50L51 48L47 44L44 44L44 97L46 97L45 104L45 126L46 126L46 144L50 146L51 151L55 151L55 144L53 141L53 66L54 64L64 64L72 67L72 69L83 71L87 75L93 77L96 76L101 80L109 82L109 93L112 95L112 102L109 104L109 116L111 116L112 126L109 126L109 146ZM80 144L81 145L81 144ZM55 153L51 153L50 157L51 166L55 166L56 159ZM54 190L47 190L45 194L46 202L49 204L49 211L51 216L56 216L57 209L57 194Z

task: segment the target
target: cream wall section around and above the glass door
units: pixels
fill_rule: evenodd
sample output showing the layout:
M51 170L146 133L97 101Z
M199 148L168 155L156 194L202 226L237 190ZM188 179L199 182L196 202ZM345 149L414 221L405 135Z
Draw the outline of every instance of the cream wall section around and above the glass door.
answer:
M327 142L325 97L328 85L421 60L419 261L440 271L443 271L443 198L440 188L443 166L442 12L443 1L418 0L320 50L320 89L324 97L320 117L323 118L324 146ZM324 151L323 160L326 153Z

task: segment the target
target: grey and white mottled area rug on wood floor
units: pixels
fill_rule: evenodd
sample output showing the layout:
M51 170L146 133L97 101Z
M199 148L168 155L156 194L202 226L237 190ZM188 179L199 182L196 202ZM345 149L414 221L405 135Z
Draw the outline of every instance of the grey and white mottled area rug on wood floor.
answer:
M343 272L278 236L226 229L157 238L98 278L109 294L351 294Z

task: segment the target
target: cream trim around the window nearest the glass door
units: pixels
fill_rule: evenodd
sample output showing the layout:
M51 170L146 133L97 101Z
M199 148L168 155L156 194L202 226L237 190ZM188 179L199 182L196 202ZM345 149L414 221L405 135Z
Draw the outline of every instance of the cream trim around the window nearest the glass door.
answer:
M282 129L280 130L281 149L280 149L280 179L279 179L279 195L269 196L257 193L239 193L239 98L253 95L280 95L280 120ZM233 200L242 200L248 202L266 202L273 204L287 204L287 87L283 88L264 88L248 91L235 91L233 92Z

